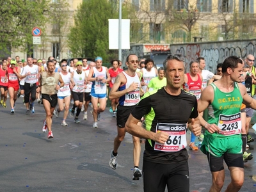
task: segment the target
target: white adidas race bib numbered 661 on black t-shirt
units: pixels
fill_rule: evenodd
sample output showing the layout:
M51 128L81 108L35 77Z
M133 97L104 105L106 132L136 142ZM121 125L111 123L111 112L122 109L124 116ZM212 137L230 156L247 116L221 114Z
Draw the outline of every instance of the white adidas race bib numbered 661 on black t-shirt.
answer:
M158 123L156 125L156 132L166 132L169 137L164 144L155 142L154 150L163 152L177 152L182 150L187 146L186 129L186 124Z

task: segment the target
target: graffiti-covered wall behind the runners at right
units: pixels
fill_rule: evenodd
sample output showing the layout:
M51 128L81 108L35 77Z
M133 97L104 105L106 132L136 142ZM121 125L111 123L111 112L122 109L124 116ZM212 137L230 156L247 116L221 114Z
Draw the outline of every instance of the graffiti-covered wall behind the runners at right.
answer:
M216 72L218 63L222 63L228 56L246 57L248 54L255 56L256 39L252 40L230 40L221 42L196 42L193 44L170 45L172 53L182 54L186 58L186 70L189 62L196 60L199 56L205 58L205 69Z

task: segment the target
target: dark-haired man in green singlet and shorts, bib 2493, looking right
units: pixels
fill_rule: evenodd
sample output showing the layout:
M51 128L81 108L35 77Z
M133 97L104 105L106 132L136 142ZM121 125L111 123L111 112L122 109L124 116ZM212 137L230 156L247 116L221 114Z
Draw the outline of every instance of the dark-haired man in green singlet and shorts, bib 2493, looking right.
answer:
M198 111L209 109L209 120L200 117L205 127L205 137L201 147L207 154L212 173L210 191L221 191L224 184L225 171L223 160L228 166L231 182L226 191L239 191L244 182L244 164L241 140L242 102L256 109L256 100L252 99L241 82L243 61L237 56L230 56L222 66L223 76L205 88L198 100Z

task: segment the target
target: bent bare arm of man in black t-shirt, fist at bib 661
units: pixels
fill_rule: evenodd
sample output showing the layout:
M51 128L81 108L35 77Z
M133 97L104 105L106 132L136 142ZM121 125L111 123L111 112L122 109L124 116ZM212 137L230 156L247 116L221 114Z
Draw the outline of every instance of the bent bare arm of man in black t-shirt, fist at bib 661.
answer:
M158 143L164 144L165 141L168 140L168 134L166 132L152 132L147 131L140 125L137 125L140 120L134 118L130 114L126 124L125 124L125 131L129 132L130 134L137 136L139 138L145 138L149 140L157 141Z

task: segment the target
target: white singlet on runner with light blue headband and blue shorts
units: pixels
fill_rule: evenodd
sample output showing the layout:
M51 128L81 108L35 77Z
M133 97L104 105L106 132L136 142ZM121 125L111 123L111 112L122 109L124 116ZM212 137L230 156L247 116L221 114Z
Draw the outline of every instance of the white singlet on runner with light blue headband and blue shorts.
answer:
M101 71L93 67L93 77L103 77L107 79L106 67L101 67ZM107 93L107 83L102 83L102 80L92 81L92 92L95 94L106 94Z

